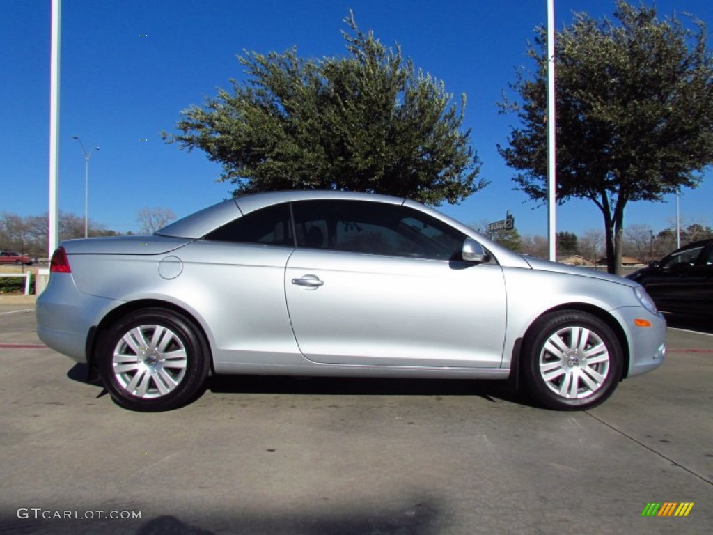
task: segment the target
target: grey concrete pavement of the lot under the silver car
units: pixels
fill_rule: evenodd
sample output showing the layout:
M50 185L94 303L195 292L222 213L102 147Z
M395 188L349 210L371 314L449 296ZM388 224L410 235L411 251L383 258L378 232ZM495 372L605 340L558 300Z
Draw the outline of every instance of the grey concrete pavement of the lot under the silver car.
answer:
M0 303L0 534L713 526L709 334L670 329L665 365L588 412L531 407L491 382L231 377L143 414L82 382L34 329L31 305ZM650 502L694 505L642 516Z

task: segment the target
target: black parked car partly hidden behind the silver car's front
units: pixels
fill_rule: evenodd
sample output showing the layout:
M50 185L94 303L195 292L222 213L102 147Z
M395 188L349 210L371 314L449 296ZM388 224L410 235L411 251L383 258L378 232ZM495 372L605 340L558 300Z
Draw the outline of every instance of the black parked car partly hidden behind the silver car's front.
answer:
M628 278L663 312L713 319L713 240L689 243Z

